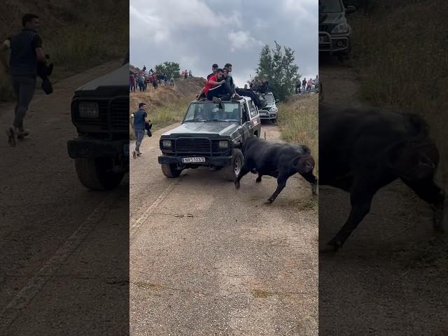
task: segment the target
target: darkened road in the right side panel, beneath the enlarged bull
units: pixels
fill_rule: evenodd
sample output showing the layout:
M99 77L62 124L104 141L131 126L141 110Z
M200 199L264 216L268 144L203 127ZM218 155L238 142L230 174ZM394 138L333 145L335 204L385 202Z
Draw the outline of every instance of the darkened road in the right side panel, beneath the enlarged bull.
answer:
M356 73L319 64L325 101L360 106ZM319 187L319 244L349 214L349 195ZM445 241L445 242L444 242ZM336 254L319 255L319 335L448 335L448 250L435 238L432 211L400 182Z

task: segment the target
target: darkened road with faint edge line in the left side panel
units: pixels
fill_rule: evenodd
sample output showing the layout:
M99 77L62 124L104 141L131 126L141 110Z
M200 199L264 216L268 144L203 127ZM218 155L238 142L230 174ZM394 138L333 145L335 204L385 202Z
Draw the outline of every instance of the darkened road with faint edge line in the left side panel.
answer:
M13 104L0 105L0 335L125 335L129 181L90 192L66 149L76 135L73 90L119 66L36 94L25 118L31 134L15 148L4 133Z

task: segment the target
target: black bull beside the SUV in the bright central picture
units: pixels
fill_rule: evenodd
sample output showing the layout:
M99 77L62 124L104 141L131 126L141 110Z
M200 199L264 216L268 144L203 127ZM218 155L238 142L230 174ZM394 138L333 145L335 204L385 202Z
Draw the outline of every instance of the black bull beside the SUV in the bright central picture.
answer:
M239 181L248 172L256 172L257 183L261 182L263 175L273 176L277 179L277 188L269 197L272 203L285 188L290 176L299 173L311 183L313 194L316 193L317 179L313 175L314 158L307 146L293 144L276 144L252 137L244 141L241 148L244 154L244 164L237 179L235 187L239 188Z

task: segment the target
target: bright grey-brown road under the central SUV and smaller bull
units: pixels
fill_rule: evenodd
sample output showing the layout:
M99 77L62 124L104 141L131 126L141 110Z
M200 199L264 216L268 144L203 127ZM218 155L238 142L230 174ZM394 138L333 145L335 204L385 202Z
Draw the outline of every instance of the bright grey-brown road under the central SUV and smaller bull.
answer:
M262 127L277 139L276 127ZM318 335L317 214L298 177L274 204L276 180L241 189L221 172L167 179L160 134L131 160L132 335Z

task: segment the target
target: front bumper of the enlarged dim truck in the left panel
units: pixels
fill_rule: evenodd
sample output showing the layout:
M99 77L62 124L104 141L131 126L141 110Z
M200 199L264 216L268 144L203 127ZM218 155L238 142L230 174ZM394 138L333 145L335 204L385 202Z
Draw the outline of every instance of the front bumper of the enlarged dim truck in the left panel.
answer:
M67 149L72 159L129 156L129 140L72 139Z

